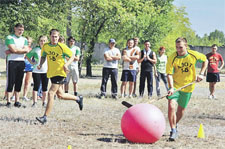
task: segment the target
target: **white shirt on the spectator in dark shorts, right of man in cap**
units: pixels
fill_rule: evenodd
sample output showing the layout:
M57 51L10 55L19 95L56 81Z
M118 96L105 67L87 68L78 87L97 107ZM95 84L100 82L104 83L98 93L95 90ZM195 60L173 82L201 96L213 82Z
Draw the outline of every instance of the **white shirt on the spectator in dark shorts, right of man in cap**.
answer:
M127 55L127 56L135 56L138 55L138 50L136 48L132 48L132 49L124 49L123 50L123 55ZM131 61L131 62L125 62L123 61L123 70L136 70L137 66L135 65L135 62L137 60Z

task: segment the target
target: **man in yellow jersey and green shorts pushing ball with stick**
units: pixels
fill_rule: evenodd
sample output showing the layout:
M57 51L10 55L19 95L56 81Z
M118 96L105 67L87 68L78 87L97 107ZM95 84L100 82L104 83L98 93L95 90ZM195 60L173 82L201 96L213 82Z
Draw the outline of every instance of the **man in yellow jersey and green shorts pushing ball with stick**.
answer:
M181 91L174 90L193 81L200 82L208 65L206 56L197 51L187 50L186 38L179 37L175 41L176 52L168 58L166 73L169 84L168 91L168 119L171 127L169 141L175 141L177 137L177 123L181 120L195 85L190 85ZM203 62L200 74L196 75L196 63ZM178 103L177 110L176 105Z

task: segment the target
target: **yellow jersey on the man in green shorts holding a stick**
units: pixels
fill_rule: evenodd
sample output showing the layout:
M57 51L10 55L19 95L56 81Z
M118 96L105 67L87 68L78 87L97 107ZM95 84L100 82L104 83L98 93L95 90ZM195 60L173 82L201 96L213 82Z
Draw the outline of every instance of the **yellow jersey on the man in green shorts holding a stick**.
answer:
M193 50L187 50L184 56L178 56L177 52L171 54L166 65L166 73L173 76L174 88L178 89L196 80L197 62L205 62L206 56ZM181 91L193 92L195 84L188 86Z

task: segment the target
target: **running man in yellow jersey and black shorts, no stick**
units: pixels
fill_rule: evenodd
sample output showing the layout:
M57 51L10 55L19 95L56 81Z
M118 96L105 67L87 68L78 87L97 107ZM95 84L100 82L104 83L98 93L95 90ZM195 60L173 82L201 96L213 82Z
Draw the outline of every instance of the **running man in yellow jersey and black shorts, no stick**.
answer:
M66 73L68 72L68 65L74 60L74 55L71 50L63 43L59 43L60 33L57 29L50 31L51 42L44 44L41 50L41 62L38 66L40 69L47 57L48 71L47 77L50 78L52 85L48 91L48 104L43 117L36 117L36 119L44 124L47 122L47 116L52 110L55 94L60 99L74 100L78 103L80 110L83 109L83 97L74 96L68 93L64 93L61 85L64 84ZM69 57L65 62L64 58Z

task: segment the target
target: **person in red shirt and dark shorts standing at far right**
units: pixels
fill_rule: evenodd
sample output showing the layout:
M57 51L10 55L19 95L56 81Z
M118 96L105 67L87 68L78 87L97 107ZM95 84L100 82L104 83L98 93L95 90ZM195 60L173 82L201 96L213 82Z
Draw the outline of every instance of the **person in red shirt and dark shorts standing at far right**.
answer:
M209 99L216 99L214 93L215 93L215 87L216 82L220 82L220 70L224 66L223 57L221 54L217 53L218 47L216 44L212 45L211 50L212 52L206 54L206 57L209 61L208 64L208 71L206 76L206 81L209 82ZM221 63L220 67L219 62Z

